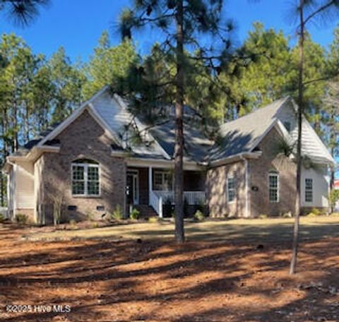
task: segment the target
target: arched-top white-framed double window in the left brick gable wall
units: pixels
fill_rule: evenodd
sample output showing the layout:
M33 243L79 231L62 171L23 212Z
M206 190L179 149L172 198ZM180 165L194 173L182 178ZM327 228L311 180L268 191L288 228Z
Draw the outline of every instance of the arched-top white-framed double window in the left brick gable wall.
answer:
M91 160L77 160L72 163L72 195L99 196L99 165Z

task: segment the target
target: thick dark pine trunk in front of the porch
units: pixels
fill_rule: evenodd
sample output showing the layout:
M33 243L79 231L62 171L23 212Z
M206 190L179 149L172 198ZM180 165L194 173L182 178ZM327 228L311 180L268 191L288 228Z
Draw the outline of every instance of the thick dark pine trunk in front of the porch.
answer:
M184 234L184 6L183 1L177 4L177 78L176 78L176 102L175 102L175 147L174 147L174 203L175 203L175 239L178 243L185 241Z

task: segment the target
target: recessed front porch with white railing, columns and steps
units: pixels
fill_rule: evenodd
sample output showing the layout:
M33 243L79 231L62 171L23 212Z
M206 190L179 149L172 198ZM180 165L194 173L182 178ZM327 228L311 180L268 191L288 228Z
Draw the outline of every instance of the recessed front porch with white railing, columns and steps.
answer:
M159 217L165 208L174 205L173 170L165 167L128 167L126 173L126 204L149 205ZM191 207L205 205L205 174L184 170L184 203Z

